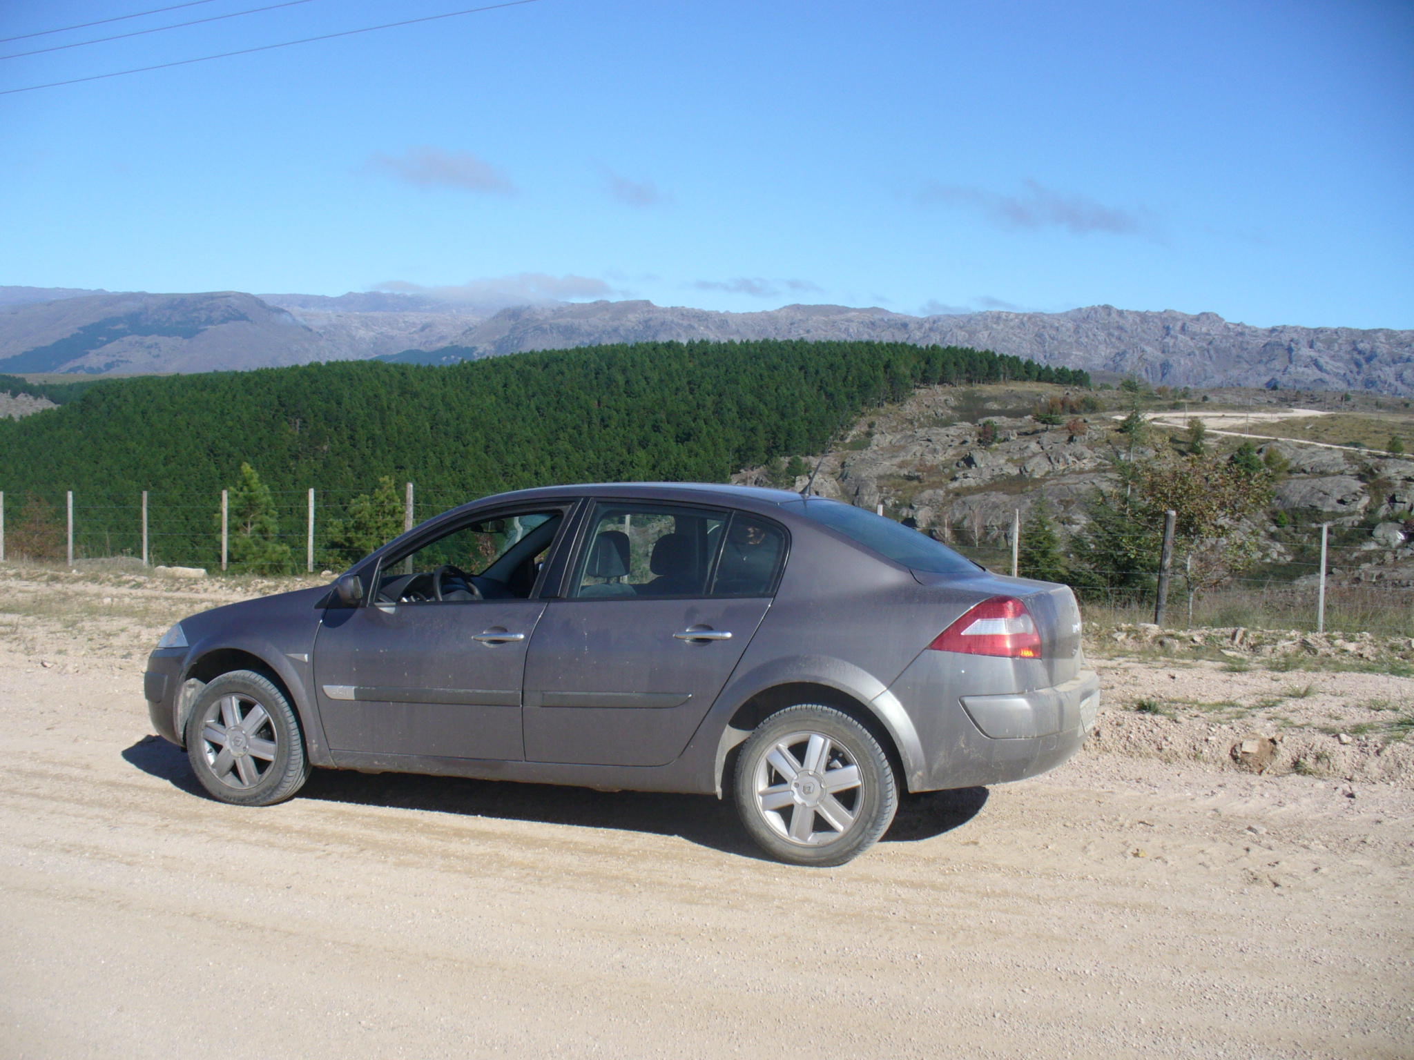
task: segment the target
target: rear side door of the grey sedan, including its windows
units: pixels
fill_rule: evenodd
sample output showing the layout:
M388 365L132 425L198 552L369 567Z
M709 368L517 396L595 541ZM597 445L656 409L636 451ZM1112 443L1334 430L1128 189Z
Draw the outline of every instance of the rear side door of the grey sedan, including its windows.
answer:
M585 530L570 589L547 603L526 657L526 759L662 766L771 606L786 533L744 513L645 502L598 502Z

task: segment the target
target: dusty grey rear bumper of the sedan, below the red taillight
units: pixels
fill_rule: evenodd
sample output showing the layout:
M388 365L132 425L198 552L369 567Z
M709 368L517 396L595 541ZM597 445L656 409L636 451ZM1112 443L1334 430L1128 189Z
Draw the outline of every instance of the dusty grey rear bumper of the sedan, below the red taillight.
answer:
M1094 728L1100 678L1093 670L1049 688L963 695L962 688L1005 687L1008 660L970 657L957 666L950 654L925 652L891 687L918 729L926 760L923 782L912 790L1000 784L1045 773L1075 755Z

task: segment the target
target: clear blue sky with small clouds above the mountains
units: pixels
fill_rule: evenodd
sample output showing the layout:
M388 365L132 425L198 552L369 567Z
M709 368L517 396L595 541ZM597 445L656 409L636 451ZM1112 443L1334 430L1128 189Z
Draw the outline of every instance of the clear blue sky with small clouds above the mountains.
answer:
M3 1L0 37L168 3ZM0 89L468 4L307 0ZM534 0L0 95L0 284L1411 328L1414 4Z

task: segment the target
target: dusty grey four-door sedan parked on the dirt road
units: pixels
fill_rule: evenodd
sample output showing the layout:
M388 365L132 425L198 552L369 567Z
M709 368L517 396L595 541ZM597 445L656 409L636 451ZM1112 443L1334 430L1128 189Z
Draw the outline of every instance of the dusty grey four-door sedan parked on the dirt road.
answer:
M222 801L314 766L731 791L800 865L867 849L901 791L1065 762L1099 687L1063 585L836 500L680 483L465 505L332 587L182 619L146 674Z

